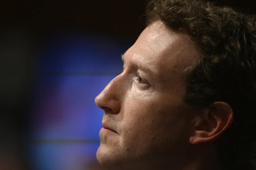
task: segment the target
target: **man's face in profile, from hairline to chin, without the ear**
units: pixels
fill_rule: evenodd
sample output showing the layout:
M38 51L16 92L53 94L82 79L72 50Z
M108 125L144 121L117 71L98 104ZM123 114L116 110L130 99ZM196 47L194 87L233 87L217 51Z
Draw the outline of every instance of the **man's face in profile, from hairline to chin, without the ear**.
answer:
M123 55L124 71L95 98L105 112L97 160L109 169L154 167L184 156L194 111L184 69L199 53L186 34L157 21Z

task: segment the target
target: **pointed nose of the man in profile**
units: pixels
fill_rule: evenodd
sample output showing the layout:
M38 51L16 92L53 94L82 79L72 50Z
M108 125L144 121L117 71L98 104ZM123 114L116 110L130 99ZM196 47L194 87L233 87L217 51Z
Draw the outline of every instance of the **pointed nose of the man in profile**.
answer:
M96 105L106 114L118 114L121 108L124 87L120 75L112 79L105 89L95 98Z

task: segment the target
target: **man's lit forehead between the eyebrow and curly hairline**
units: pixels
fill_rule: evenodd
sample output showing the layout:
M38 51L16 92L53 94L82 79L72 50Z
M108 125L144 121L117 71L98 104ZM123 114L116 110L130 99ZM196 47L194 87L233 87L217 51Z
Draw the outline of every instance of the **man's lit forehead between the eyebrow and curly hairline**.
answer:
M196 45L185 33L167 29L161 21L150 24L139 35L123 60L147 67L157 75L183 73L198 59Z

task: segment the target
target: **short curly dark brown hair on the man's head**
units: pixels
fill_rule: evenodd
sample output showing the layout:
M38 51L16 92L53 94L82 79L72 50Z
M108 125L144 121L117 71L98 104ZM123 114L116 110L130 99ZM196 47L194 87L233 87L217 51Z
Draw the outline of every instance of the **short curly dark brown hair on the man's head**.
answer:
M149 1L147 24L161 20L185 32L202 56L185 72L185 102L223 101L234 112L216 147L224 169L256 169L256 20L229 7L194 0Z

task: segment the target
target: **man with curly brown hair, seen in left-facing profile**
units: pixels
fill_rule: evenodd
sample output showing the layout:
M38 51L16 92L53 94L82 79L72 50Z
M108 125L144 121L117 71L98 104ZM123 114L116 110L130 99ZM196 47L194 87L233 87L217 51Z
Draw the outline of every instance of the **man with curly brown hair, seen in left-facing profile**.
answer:
M256 21L200 1L150 1L124 71L95 98L107 169L255 168Z

